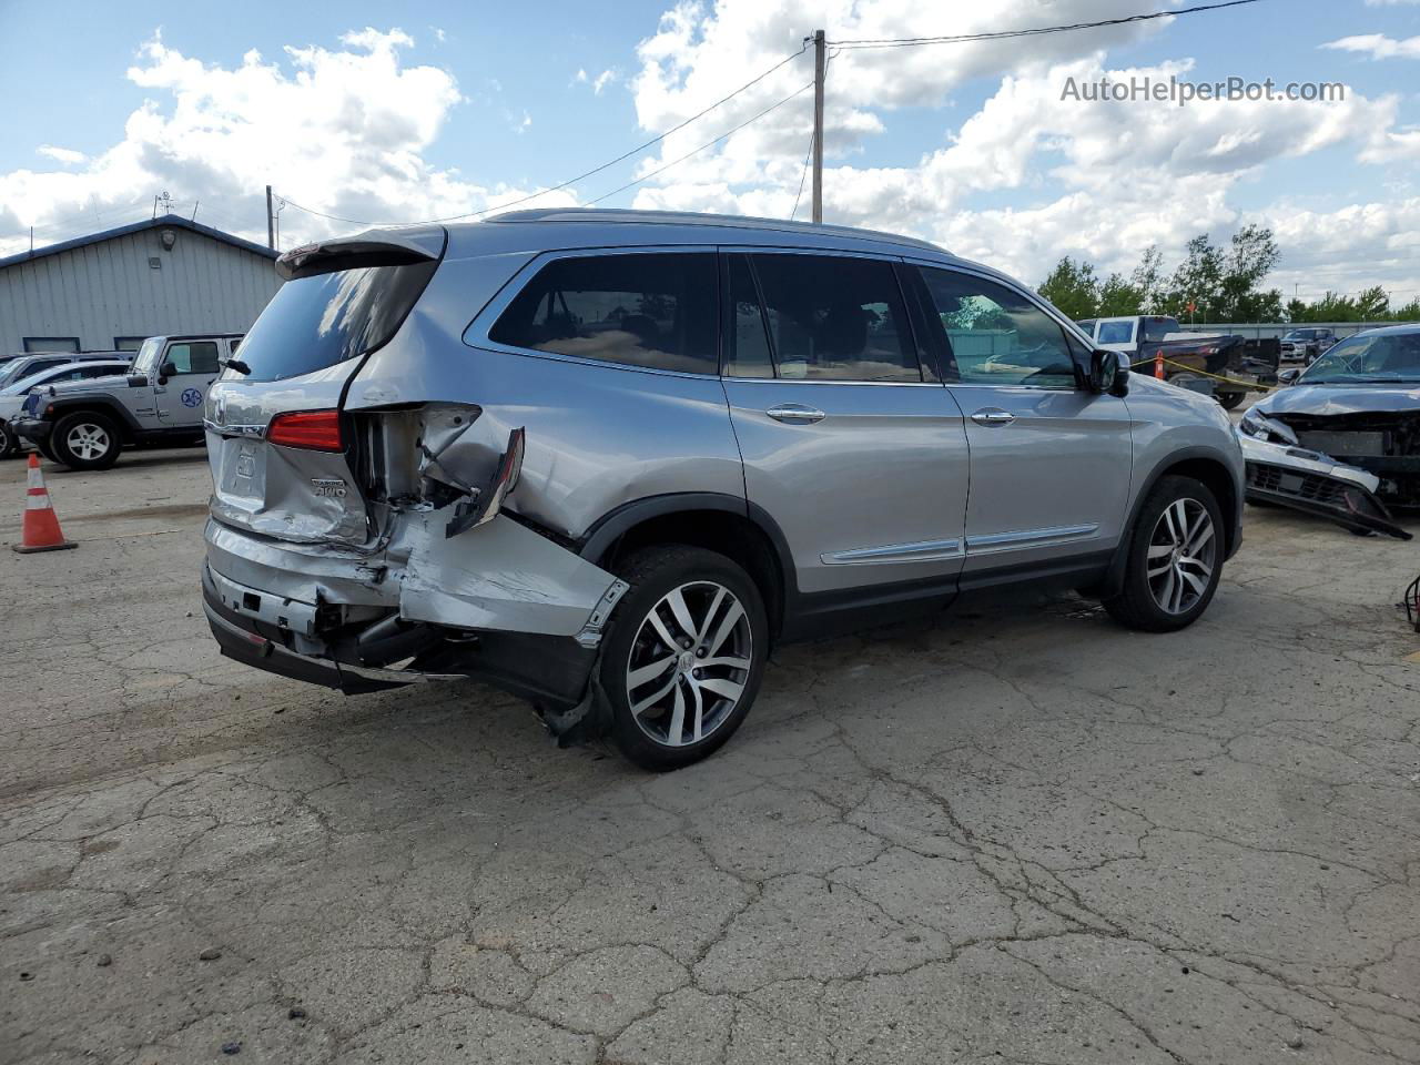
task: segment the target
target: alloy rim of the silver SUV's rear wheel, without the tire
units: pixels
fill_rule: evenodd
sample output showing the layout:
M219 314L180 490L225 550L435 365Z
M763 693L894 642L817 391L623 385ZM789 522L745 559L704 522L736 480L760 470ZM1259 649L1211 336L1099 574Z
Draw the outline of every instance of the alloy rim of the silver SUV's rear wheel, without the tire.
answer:
M740 704L753 660L750 616L736 595L714 581L683 584L652 606L632 640L632 717L665 747L699 743Z

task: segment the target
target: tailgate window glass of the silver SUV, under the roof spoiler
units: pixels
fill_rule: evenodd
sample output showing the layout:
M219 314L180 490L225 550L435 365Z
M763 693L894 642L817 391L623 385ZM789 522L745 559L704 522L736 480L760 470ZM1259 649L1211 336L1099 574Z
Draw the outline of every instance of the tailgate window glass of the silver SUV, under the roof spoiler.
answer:
M287 281L241 341L243 381L284 381L386 344L439 268L364 267Z

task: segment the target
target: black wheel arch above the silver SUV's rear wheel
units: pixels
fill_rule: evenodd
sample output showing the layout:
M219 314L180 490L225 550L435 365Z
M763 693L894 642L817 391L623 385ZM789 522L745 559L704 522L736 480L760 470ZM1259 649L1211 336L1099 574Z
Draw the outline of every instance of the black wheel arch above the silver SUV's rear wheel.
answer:
M635 500L594 523L578 554L611 569L626 552L650 544L703 547L737 562L764 596L770 638L778 638L797 582L784 531L761 507L709 491Z

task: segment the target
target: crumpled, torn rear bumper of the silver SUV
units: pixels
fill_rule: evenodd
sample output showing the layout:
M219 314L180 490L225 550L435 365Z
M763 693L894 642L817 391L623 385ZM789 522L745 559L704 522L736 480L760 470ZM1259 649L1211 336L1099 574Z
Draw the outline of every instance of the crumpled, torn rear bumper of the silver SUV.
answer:
M352 694L457 676L581 701L626 584L506 514L446 538L449 520L406 514L376 554L209 521L213 636L239 662Z

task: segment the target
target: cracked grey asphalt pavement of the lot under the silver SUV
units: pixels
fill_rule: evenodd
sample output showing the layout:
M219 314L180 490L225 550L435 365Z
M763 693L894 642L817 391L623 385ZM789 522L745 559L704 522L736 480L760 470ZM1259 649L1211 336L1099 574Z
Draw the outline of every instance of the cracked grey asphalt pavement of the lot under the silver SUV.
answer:
M47 479L80 550L0 552L6 1065L1420 1061L1413 544L1250 508L1183 633L787 648L653 777L473 683L219 657L200 449Z

